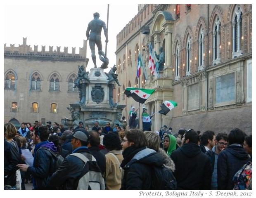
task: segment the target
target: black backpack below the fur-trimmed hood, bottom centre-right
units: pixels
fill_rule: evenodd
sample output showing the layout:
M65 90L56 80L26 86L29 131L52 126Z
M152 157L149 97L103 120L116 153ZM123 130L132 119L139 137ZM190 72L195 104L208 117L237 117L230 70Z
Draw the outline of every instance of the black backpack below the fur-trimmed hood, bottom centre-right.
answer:
M175 190L177 181L171 169L164 166L152 167L152 190Z

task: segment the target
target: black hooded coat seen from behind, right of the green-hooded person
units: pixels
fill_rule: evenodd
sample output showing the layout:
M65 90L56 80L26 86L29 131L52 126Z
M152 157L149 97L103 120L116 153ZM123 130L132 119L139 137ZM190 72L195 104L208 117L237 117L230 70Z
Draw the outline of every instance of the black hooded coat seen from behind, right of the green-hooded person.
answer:
M174 176L178 189L208 190L211 189L211 164L199 145L183 144L171 153L175 164Z

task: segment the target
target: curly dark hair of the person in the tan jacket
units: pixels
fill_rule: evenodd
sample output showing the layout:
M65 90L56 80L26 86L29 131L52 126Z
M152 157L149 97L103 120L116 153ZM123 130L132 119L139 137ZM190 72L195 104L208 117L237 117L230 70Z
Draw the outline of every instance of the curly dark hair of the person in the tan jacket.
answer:
M107 148L109 151L113 150L121 150L121 140L119 138L119 135L115 133L108 133L105 134L103 137L103 145L105 148Z

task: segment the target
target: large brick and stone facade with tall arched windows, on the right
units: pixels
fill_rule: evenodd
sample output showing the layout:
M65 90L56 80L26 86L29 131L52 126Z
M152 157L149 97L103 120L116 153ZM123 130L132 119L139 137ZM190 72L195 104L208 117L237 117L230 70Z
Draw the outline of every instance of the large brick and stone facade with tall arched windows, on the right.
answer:
M156 113L152 130L161 126L251 133L252 5L139 5L138 14L117 35L119 82L116 100L156 113L165 100L178 103L167 115ZM151 75L153 54L165 52L164 70ZM137 78L138 54L145 68ZM154 56L154 55L153 55ZM156 61L156 60L155 60ZM123 92L126 87L155 89L141 105ZM141 119L140 119L141 120ZM141 122L141 121L140 121Z

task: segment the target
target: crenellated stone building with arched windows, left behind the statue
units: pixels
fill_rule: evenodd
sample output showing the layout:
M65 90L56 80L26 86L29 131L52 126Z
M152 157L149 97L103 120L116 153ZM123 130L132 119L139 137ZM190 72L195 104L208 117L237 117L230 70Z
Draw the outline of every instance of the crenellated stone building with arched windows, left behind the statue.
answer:
M75 47L68 53L68 47L61 52L60 47L49 51L38 51L38 46L30 47L27 39L19 47L5 44L4 51L4 119L19 127L22 122L33 123L42 120L43 124L62 123L70 116L69 104L79 101L78 89L73 88L77 79L78 65L85 68L87 43L76 54Z

